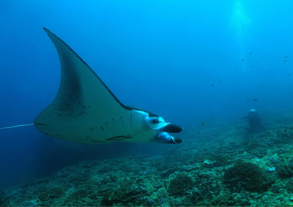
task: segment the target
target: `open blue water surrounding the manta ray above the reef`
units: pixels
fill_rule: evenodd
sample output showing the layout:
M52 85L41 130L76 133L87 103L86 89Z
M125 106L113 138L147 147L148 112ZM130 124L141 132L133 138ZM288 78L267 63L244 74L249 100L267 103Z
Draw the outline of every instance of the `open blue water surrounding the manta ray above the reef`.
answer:
M42 27L74 49L122 103L183 127L194 125L194 118L239 121L252 107L290 109L292 6L292 1L0 1L0 127L32 123L57 94L59 58ZM285 63L284 56L289 56ZM33 126L1 130L0 138L1 186L80 160L168 148L86 146L47 137Z

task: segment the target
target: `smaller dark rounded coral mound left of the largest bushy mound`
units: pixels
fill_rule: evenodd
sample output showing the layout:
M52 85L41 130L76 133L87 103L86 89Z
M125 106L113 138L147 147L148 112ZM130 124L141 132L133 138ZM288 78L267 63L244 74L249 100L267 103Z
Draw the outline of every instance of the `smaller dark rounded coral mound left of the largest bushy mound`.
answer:
M171 194L180 194L192 188L193 183L193 179L190 176L181 173L170 181L168 191Z

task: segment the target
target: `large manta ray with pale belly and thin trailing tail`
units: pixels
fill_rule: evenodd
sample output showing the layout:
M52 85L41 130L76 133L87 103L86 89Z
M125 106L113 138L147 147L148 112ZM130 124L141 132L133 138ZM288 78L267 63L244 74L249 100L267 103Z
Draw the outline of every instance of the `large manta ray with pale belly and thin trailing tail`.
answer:
M181 138L168 134L182 131L182 127L146 110L122 104L63 40L43 29L57 49L61 81L55 100L40 112L33 124L25 125L34 125L47 136L85 144L182 142Z

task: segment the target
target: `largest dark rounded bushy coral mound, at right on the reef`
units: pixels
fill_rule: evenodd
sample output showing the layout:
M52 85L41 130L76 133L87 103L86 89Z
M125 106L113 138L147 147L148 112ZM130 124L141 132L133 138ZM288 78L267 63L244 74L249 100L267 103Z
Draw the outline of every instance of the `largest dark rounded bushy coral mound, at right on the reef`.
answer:
M268 174L264 174L258 165L243 162L225 171L224 182L236 188L240 185L246 190L266 190L274 180Z

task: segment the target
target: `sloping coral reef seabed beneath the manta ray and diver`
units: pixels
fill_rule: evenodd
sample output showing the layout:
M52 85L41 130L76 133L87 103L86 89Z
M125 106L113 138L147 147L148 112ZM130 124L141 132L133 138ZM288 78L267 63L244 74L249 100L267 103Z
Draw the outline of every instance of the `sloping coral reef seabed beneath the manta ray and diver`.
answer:
M271 126L186 130L184 143L154 154L84 161L0 189L0 206L290 206L293 125Z

